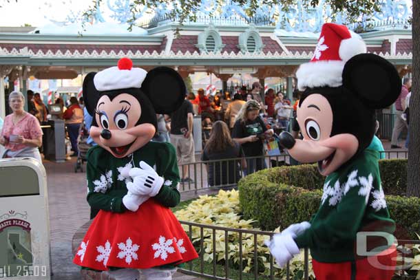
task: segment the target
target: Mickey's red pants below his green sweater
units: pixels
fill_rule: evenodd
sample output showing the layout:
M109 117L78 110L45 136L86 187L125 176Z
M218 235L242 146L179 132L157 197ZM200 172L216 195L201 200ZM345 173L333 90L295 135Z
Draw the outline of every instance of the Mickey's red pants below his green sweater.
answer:
M397 264L397 250L391 246L379 255L344 263L312 260L317 280L390 280Z

